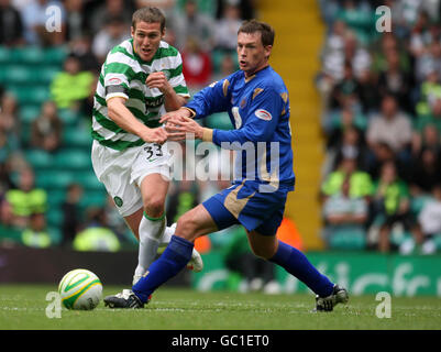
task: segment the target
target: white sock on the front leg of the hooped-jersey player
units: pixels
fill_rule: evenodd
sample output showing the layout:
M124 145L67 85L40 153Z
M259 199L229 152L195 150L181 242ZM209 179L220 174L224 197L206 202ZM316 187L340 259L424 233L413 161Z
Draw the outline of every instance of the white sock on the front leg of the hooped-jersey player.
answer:
M140 223L140 250L135 277L141 277L147 272L148 266L156 257L161 239L165 231L166 219L151 220L143 216ZM170 235L172 237L172 235ZM169 240L168 240L169 241Z

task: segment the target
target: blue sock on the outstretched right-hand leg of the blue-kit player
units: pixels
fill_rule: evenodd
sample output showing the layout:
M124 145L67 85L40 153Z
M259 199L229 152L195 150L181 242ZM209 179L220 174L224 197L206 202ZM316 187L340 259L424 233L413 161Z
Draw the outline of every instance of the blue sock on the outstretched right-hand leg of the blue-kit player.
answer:
M289 274L296 276L320 297L327 297L332 294L334 285L328 277L321 275L305 254L297 249L278 241L277 252L269 261L280 265Z

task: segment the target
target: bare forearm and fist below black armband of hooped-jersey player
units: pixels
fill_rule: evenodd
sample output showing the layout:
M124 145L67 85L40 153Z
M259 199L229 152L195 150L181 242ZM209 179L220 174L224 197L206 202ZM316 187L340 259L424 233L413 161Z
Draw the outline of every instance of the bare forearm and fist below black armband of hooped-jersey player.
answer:
M163 128L150 129L139 121L125 107L125 99L113 97L107 101L109 118L126 132L133 133L147 143L163 144L167 132Z

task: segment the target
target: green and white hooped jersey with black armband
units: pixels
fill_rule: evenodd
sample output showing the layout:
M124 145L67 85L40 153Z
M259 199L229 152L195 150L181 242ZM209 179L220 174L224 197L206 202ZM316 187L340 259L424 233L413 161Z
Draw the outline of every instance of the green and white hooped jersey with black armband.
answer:
M144 143L108 117L107 100L112 97L128 99L125 107L145 125L161 125L161 116L166 112L164 95L159 89L150 89L145 85L148 74L155 72L165 73L176 94L190 97L183 75L183 59L175 47L161 42L151 62L142 61L134 53L132 38L113 47L101 67L93 99L91 135L96 141L119 151Z

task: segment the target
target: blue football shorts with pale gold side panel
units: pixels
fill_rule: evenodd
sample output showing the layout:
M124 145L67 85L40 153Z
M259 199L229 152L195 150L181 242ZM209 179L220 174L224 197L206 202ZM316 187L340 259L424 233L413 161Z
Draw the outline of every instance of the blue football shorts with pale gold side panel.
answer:
M272 193L261 193L258 186L255 182L235 184L202 202L219 231L242 224L247 231L276 234L291 189L279 187Z

